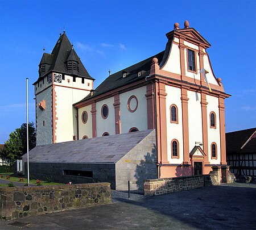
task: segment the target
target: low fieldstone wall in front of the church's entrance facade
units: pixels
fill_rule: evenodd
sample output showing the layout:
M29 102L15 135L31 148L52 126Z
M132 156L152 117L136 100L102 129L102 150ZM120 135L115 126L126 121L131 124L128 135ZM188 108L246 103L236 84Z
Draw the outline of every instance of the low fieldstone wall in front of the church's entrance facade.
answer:
M144 195L161 195L212 185L210 175L144 180Z

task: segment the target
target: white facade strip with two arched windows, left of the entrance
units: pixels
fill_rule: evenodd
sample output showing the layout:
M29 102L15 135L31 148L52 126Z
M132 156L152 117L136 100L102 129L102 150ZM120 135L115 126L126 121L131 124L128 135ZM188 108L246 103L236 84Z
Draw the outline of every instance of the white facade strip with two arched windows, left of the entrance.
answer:
M183 126L182 126L182 107L181 107L181 89L172 86L166 86L166 124L167 124L167 157L170 164L181 164L183 162ZM177 106L178 123L171 123L170 106ZM179 159L171 158L171 141L179 141Z

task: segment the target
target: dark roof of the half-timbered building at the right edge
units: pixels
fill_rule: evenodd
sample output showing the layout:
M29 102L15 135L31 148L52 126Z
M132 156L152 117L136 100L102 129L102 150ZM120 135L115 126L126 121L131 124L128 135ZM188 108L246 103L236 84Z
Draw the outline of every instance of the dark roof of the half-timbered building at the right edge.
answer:
M226 154L255 153L256 128L226 133Z

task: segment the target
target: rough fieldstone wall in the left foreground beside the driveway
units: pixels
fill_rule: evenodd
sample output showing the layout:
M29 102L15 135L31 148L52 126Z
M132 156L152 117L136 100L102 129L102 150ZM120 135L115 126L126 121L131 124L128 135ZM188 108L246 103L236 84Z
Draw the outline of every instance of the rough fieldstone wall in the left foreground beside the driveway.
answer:
M110 203L110 183L3 187L0 189L0 219L16 219Z

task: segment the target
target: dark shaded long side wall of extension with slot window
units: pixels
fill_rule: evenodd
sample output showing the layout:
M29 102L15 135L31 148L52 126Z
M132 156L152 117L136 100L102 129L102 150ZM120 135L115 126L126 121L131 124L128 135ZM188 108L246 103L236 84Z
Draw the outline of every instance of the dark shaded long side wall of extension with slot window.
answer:
M76 175L64 175L63 170L91 171L93 177L80 177ZM27 175L27 165L24 171ZM74 164L74 163L34 163L30 162L30 177L46 180L52 177L53 182L67 183L95 183L109 182L115 189L115 165L114 164Z

